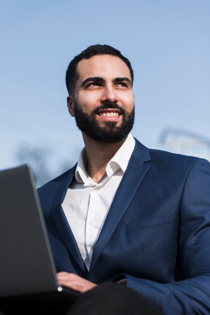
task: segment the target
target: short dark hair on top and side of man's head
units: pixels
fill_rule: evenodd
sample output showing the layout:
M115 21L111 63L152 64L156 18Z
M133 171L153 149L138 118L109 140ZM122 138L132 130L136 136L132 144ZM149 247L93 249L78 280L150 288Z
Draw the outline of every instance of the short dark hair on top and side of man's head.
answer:
M118 49L115 49L109 45L91 45L83 50L80 54L75 56L68 65L68 68L66 70L66 87L69 95L73 94L75 90L75 85L78 78L77 64L82 59L89 59L95 55L113 55L121 58L129 67L131 73L131 81L133 84L134 72L131 66L131 62L126 57L124 57Z

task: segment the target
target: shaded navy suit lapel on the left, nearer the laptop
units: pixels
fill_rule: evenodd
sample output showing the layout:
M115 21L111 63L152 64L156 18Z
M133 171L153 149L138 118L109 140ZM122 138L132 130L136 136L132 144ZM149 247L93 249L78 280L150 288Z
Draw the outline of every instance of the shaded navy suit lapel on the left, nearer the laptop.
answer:
M64 240L66 247L70 251L77 265L86 274L87 269L84 265L76 240L74 238L74 235L71 231L71 228L68 224L66 216L61 207L61 204L63 203L63 200L65 198L67 189L74 178L75 169L76 169L76 166L70 170L69 175L65 177L63 181L60 183L59 189L54 197L51 210L52 210L52 216L53 216L54 222L61 234L61 237Z

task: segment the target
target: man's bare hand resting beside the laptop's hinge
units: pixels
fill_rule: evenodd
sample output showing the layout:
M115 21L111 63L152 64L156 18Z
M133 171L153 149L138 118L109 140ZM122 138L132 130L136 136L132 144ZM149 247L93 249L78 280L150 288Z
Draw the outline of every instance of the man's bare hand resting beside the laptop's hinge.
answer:
M59 284L65 285L73 290L76 290L82 293L89 291L96 286L95 283L90 282L84 278L81 278L75 275L74 273L68 273L68 272L57 273L57 280Z

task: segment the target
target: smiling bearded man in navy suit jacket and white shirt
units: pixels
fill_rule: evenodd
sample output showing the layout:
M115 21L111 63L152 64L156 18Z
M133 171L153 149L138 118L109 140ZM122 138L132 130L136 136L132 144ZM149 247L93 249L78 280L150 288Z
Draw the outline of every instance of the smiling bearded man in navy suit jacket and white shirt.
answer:
M132 84L130 61L108 45L68 66L85 148L39 190L58 281L81 292L122 282L165 314L209 314L209 163L132 137Z

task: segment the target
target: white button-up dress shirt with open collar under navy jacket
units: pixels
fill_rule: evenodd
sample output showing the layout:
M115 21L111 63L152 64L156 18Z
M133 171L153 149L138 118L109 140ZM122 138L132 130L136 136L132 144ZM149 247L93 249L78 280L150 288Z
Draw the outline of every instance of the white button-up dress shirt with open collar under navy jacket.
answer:
M89 270L93 247L134 150L135 140L129 133L126 141L107 165L107 177L95 183L86 172L86 152L82 149L62 208L77 246Z

